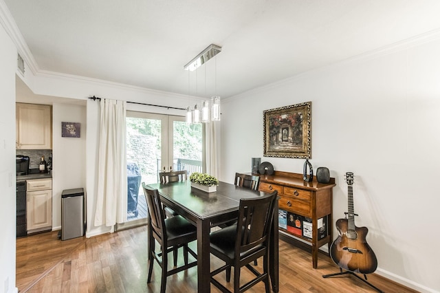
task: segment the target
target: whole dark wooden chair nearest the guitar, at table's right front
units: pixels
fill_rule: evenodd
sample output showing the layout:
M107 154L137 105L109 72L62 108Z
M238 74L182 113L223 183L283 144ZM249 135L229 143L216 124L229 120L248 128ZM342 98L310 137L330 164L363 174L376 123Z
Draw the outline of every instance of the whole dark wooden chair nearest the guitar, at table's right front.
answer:
M234 292L244 292L260 281L265 283L265 292L270 292L268 259L276 195L277 191L274 191L270 195L240 199L237 224L210 233L210 253L225 261L221 268L210 272L210 281L222 292L230 291L214 276L225 271L226 281L229 282L232 267ZM260 257L263 257L263 272L250 265ZM248 268L256 277L240 286L242 267Z

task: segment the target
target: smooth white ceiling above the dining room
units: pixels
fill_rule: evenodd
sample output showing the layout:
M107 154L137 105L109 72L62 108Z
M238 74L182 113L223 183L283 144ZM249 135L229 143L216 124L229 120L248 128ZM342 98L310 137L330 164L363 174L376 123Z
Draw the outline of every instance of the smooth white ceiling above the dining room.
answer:
M223 98L440 28L438 0L0 1L39 71Z

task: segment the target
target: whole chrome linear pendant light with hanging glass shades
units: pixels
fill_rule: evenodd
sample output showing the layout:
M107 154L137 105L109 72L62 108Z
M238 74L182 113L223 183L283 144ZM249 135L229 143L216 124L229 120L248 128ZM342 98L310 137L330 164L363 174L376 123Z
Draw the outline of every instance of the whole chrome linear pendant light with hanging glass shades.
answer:
M184 69L188 70L188 98L190 96L189 72L192 72L201 65L205 64L208 60L210 60L210 58L213 58L214 56L219 54L219 52L221 52L221 47L211 44L184 66ZM197 72L196 72L196 76L197 76ZM205 87L206 87L206 69L205 69ZM196 88L197 88L197 77L196 77ZM196 90L196 94L197 94L197 90ZM217 96L217 58L215 58L215 96L212 96L211 100L203 100L203 102L201 103L201 110L199 109L197 104L194 106L194 110L191 110L190 107L188 106L186 108L186 122L207 123L210 121L219 121L219 120L220 120L220 97Z

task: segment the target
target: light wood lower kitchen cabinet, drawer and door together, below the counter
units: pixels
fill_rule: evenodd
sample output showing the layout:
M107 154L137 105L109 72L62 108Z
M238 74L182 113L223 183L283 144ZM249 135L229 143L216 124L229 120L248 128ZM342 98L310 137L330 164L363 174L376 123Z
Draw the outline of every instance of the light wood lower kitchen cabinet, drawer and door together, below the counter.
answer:
M26 181L28 234L52 230L52 179Z

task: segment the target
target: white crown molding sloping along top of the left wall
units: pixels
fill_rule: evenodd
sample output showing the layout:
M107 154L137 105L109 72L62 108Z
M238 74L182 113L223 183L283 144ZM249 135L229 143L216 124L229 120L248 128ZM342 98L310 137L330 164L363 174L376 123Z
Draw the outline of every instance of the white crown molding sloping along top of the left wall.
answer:
M0 23L6 33L10 36L15 47L17 47L17 51L25 61L25 64L28 65L32 74L39 72L39 65L36 63L32 52L29 50L28 44L23 38L17 23L15 23L8 6L6 6L6 3L3 0L0 0Z

